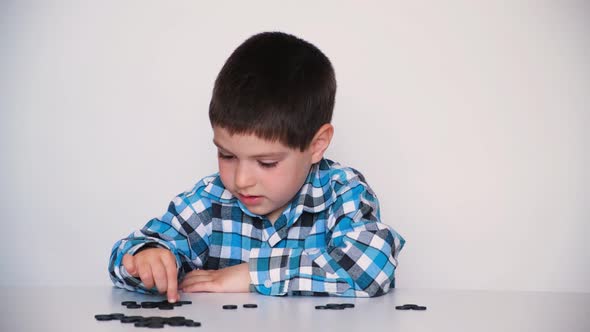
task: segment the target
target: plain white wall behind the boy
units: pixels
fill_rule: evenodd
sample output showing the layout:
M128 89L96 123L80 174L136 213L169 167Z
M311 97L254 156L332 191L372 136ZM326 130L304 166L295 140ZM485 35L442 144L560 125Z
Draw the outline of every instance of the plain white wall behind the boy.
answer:
M328 157L406 238L399 287L590 292L587 4L210 3L0 3L0 284L109 285L215 171L225 59L282 30L335 66Z

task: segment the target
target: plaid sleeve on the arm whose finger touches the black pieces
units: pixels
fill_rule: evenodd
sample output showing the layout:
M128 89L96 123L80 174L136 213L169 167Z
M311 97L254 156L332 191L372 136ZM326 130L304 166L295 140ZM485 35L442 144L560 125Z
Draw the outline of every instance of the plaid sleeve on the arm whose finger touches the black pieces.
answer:
M183 193L169 204L166 213L150 220L141 230L134 231L117 241L109 260L109 275L115 286L141 293L157 293L146 288L141 280L131 276L122 265L125 254L135 254L146 247L161 247L170 250L176 257L178 279L184 274L203 266L209 253L209 232L203 223L210 202Z

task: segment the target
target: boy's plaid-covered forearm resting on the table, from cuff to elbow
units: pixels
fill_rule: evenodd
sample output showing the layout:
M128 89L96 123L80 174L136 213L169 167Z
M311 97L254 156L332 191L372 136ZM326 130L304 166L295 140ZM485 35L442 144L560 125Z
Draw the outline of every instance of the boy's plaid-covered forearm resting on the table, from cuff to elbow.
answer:
M351 232L344 246L324 249L253 249L250 276L255 289L266 295L327 293L372 297L389 291L394 280L399 240L386 225L368 234ZM370 232L371 233L371 232ZM359 241L377 236L369 243ZM381 240L381 239L384 240Z

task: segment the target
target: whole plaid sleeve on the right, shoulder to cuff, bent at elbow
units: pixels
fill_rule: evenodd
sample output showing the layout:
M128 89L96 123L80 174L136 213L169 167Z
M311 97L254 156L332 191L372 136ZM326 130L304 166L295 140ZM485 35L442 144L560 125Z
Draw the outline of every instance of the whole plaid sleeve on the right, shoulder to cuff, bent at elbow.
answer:
M332 204L324 249L259 248L250 252L250 277L266 295L373 297L394 286L405 241L379 221L379 203L358 184Z

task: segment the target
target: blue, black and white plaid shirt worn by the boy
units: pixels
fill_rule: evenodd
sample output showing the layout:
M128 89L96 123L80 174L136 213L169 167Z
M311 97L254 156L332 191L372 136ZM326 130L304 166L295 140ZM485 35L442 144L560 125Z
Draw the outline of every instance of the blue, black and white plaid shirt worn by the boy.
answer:
M194 269L248 262L251 289L265 295L379 296L395 285L404 239L379 220L379 204L362 174L323 159L274 225L251 213L205 177L170 203L161 217L113 246L116 286L146 289L122 266L124 254L149 245L176 256L179 279Z

